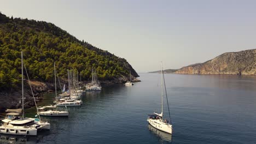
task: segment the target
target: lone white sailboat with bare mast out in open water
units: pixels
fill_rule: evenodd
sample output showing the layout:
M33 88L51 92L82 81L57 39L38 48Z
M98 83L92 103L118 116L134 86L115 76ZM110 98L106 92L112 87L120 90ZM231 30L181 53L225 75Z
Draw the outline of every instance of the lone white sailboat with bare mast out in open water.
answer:
M164 113L163 113L163 97L164 97L163 82L164 82L164 86L165 86L164 73L163 73L162 67L161 67L162 111L161 111L161 113L154 112L153 114L148 115L147 121L150 125L152 125L152 127L159 129L161 131L165 131L166 133L172 134L172 124L170 124L167 119L163 120L163 117L164 117ZM167 100L167 106L168 106L166 88L165 88L165 94L166 94L166 100ZM168 106L168 112L169 112L169 117L170 117L170 121L171 121L169 106Z

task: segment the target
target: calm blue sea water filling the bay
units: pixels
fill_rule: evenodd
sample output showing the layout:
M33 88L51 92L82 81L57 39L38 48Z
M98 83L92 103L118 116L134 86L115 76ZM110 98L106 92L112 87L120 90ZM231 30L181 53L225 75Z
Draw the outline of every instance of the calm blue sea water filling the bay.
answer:
M255 76L166 74L170 135L147 123L147 114L161 109L160 75L139 75L142 82L132 87L86 93L83 106L68 108L68 118L44 117L50 131L1 135L0 143L256 143ZM45 98L43 104L53 96Z

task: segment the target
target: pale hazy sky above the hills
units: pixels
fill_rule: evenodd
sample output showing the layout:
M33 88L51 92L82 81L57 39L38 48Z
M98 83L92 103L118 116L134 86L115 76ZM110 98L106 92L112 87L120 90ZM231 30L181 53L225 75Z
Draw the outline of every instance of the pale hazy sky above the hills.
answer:
M137 72L181 68L255 49L256 1L10 1L7 16L54 23L125 58Z

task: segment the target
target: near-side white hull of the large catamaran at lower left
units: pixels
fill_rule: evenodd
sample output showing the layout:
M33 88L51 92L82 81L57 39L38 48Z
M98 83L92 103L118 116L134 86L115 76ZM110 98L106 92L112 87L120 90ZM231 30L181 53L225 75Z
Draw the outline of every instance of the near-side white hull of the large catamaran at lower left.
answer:
M0 127L0 134L7 135L37 135L36 128L24 128L24 127Z

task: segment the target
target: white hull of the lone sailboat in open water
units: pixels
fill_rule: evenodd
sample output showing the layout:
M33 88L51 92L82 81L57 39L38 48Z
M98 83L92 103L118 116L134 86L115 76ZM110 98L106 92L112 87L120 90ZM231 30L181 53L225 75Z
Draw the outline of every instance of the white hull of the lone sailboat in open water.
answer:
M148 119L147 120L152 127L164 131L166 133L172 134L172 125L162 122L160 119Z

